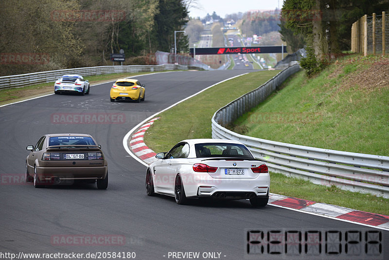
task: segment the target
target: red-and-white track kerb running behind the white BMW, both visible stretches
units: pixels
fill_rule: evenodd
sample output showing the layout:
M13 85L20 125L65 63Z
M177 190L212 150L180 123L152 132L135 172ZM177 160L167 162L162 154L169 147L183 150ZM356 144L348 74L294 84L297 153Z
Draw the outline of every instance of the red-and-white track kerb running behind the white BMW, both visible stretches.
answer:
M153 118L132 134L129 147L135 155L146 164L156 161L156 153L149 149L143 141L144 133L159 117ZM374 214L342 206L336 206L314 201L301 200L293 197L286 197L270 193L269 205L302 211L304 213L323 216L340 221L358 223L365 226L372 226L389 230L389 216Z

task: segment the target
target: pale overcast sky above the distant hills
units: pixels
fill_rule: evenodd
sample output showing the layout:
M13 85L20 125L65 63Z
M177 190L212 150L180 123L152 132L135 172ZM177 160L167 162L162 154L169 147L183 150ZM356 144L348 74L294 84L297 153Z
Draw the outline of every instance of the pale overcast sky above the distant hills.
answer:
M203 18L213 11L222 18L228 14L245 13L249 10L274 10L282 8L283 0L197 0L197 8L189 9L190 17Z

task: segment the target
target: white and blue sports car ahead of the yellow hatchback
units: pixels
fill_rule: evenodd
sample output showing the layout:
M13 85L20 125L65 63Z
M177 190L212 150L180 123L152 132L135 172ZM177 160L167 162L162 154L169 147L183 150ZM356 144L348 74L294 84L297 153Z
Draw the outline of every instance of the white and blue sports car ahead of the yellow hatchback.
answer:
M54 83L54 93L89 94L89 81L80 75L63 75Z

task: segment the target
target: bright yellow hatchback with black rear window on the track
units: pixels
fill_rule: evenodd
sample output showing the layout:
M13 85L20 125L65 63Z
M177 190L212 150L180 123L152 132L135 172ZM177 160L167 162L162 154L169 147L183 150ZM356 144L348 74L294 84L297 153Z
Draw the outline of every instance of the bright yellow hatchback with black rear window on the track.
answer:
M138 79L121 78L113 84L109 96L111 102L115 100L135 100L139 103L144 101L144 92L144 84L141 84Z

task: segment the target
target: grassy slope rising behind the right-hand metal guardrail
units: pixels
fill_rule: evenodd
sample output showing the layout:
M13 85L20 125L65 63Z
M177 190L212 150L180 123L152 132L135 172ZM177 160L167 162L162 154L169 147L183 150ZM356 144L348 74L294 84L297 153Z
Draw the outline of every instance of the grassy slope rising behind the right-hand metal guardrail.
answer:
M315 78L289 78L235 122L245 135L389 156L389 59L346 56Z

